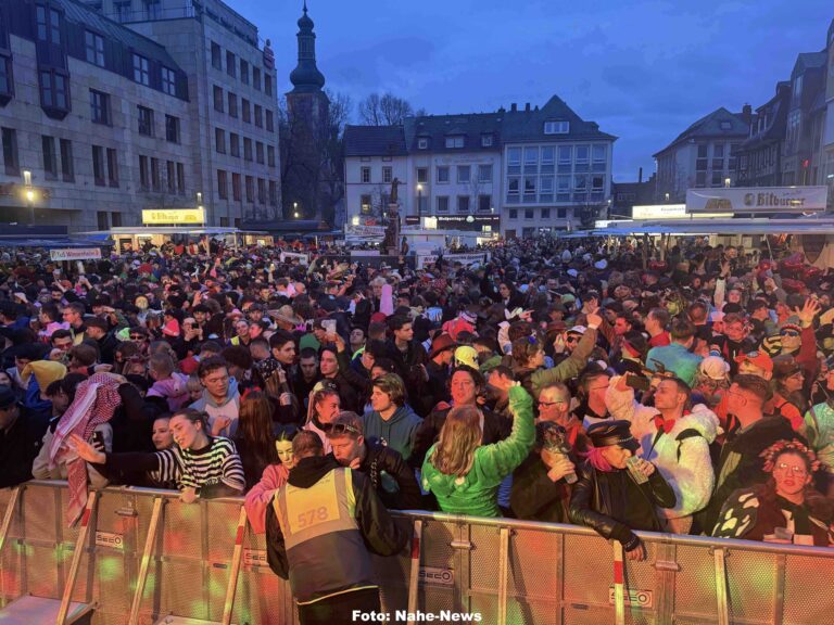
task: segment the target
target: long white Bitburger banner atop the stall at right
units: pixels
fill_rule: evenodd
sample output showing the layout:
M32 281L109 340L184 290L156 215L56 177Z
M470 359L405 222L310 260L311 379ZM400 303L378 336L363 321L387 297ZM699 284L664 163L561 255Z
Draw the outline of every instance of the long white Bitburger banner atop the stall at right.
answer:
M825 211L827 187L690 189L687 213L814 213Z

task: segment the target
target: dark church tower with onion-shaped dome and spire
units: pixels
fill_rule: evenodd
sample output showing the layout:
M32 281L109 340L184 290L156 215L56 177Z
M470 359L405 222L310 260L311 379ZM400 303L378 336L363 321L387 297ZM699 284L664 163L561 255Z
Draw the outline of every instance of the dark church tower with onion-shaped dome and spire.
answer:
M289 142L283 184L283 206L287 217L298 212L301 219L321 220L325 179L329 163L325 157L328 140L330 101L321 90L325 77L316 66L316 34L307 15L307 3L299 20L299 62L290 74L293 89L287 93Z

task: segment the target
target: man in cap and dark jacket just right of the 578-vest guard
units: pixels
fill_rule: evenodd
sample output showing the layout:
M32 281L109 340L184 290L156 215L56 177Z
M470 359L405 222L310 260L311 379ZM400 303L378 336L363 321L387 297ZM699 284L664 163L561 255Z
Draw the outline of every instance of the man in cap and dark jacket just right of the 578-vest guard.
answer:
M365 438L363 420L355 412L341 412L327 431L332 456L342 467L361 471L369 481L386 508L419 510L420 487L414 469L389 446Z

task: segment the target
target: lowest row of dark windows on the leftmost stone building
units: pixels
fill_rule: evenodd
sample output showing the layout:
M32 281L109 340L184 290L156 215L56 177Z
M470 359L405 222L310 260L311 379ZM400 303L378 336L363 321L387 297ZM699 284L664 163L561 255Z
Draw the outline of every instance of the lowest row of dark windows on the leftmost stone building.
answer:
M8 176L20 176L21 165L17 154L17 132L13 128L2 128L3 164ZM48 135L40 138L43 157L43 177L47 180L64 182L75 181L73 142L70 139L56 139ZM97 187L119 187L118 152L114 148L91 145L92 177ZM59 165L60 158L60 165ZM139 155L139 186L144 191L162 191L162 161ZM186 194L186 166L176 161L165 162L165 190L168 193Z

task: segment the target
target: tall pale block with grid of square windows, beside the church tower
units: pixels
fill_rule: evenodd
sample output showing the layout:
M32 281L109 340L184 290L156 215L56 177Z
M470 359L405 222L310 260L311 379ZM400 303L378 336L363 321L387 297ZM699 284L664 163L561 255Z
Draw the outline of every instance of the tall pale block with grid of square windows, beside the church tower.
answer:
M165 47L188 77L185 123L210 224L280 215L275 61L257 27L219 0L85 0Z

